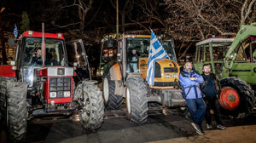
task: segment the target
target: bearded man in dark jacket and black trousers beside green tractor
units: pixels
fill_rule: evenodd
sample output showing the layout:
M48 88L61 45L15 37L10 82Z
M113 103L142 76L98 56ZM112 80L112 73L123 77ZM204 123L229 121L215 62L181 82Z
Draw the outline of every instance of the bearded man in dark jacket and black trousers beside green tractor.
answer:
M202 77L204 78L204 83L201 84L201 90L204 94L204 100L207 105L207 129L212 129L212 118L210 113L211 108L214 112L217 128L225 129L219 114L218 95L220 93L220 84L218 81L218 77L215 74L211 73L211 65L207 64L203 66Z

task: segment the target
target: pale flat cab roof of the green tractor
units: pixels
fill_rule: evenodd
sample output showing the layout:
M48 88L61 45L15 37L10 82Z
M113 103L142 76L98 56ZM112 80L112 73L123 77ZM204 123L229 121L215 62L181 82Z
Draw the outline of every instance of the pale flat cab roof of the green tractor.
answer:
M209 38L207 40L203 40L199 43L196 43L196 46L209 45L212 43L212 47L222 47L222 46L230 46L230 44L234 41L234 38Z

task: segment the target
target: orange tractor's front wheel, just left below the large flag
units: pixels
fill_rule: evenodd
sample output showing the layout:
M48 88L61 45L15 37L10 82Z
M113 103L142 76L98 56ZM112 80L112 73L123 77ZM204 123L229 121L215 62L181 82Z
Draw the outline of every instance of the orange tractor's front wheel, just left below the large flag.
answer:
M147 87L142 77L128 77L125 100L131 122L146 123L148 120Z

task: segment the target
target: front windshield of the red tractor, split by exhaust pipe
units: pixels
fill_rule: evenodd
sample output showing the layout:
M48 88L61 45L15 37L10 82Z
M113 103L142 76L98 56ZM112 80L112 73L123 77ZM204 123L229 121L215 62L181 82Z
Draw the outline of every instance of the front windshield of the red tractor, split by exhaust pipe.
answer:
M42 38L26 37L22 66L42 66ZM63 41L59 39L45 39L45 66L65 66Z

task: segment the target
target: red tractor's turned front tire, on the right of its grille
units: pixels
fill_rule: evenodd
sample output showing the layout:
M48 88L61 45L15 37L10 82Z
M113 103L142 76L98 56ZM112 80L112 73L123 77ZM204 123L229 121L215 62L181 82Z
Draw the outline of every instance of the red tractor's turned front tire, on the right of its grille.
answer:
M78 91L82 90L82 91ZM102 127L104 118L104 103L102 91L94 83L79 83L76 93L81 93L78 99L80 123L84 129L94 131Z

